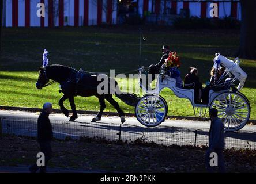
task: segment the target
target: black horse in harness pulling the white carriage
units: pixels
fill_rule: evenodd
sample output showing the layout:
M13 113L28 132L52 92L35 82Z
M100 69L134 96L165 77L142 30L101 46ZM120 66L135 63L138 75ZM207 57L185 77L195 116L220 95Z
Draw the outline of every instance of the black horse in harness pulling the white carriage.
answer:
M97 93L97 86L99 85L99 83L101 83L101 81L97 81L98 75L99 74L90 74L88 72L80 72L74 68L67 67L67 66L52 64L52 65L40 68L36 87L37 89L42 89L43 87L50 85L52 83L52 82L49 83L50 79L58 82L61 85L62 90L60 90L59 92L60 93L62 92L64 95L61 99L59 99L59 106L61 107L61 110L65 114L65 116L69 117L69 111L63 105L63 102L66 99L69 99L70 106L72 109L72 116L70 117L69 121L74 121L77 118L76 105L74 103L74 96L79 95L82 97L90 97L94 95L99 99L100 111L99 113L97 113L96 117L92 119L92 122L101 120L103 110L106 108L105 99L115 107L115 109L117 110L121 118L121 122L122 123L125 122L125 113L119 107L118 102L116 102L115 99L112 98L112 94ZM109 85L108 89L110 89L110 87L111 86ZM116 81L115 81L114 87L115 87L115 90L119 89L118 83ZM120 99L124 97L124 95L116 95L116 96ZM125 102L127 102L127 100Z

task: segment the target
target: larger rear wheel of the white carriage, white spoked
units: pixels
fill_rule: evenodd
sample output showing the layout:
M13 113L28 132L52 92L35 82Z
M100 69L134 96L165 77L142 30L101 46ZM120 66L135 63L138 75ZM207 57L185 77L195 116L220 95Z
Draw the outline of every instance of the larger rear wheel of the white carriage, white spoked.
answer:
M249 101L242 93L221 93L213 99L210 108L218 109L224 130L229 132L243 128L251 113Z

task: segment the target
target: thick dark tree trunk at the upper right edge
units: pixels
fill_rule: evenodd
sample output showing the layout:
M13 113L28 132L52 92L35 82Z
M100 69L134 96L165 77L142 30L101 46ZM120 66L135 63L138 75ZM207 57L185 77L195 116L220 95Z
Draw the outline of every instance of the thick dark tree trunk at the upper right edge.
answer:
M240 47L236 56L256 59L256 1L240 0L241 30Z

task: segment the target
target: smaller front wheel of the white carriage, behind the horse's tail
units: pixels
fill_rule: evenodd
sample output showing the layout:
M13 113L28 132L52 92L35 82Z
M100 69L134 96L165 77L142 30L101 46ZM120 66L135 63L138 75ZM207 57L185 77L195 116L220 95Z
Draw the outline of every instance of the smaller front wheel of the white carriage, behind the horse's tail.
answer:
M163 97L145 95L135 106L135 115L142 125L155 127L167 116L168 107Z

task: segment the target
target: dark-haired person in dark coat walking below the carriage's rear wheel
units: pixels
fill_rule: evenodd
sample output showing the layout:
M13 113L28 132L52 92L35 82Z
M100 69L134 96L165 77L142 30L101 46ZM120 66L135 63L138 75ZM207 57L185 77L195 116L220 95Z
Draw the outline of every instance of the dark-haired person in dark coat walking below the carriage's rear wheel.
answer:
M209 110L210 114L210 131L209 131L209 148L205 154L206 169L209 172L213 171L213 166L210 166L210 154L215 152L217 154L217 166L221 173L225 172L225 163L223 150L225 148L224 139L224 125L223 122L217 117L218 110L212 108Z

